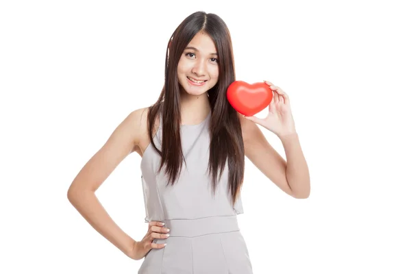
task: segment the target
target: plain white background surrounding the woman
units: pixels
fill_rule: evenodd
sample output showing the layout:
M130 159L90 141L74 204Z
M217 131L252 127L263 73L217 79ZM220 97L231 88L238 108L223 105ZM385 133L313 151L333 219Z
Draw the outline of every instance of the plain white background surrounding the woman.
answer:
M95 232L66 191L158 98L166 43L197 10L227 23L237 79L288 93L310 168L298 200L247 162L238 220L254 273L411 273L406 1L200 2L1 1L0 273L137 272L142 260ZM136 153L97 197L144 236Z

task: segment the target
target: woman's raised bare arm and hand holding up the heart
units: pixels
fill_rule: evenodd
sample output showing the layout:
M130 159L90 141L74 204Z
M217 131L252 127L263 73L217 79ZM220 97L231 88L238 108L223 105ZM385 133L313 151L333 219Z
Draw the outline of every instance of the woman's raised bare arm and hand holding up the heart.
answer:
M310 196L310 173L295 130L290 99L281 88L270 82L266 84L273 90L269 114L265 119L256 116L245 116L242 119L245 155L288 195L306 199ZM286 160L273 149L256 124L278 136L284 146Z

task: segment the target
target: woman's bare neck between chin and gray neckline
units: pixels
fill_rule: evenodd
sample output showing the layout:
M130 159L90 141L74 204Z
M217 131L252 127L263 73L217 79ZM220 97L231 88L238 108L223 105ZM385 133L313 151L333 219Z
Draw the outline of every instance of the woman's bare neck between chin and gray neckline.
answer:
M183 93L183 92L182 92ZM202 95L180 95L182 125L197 125L201 123L211 111L207 93Z

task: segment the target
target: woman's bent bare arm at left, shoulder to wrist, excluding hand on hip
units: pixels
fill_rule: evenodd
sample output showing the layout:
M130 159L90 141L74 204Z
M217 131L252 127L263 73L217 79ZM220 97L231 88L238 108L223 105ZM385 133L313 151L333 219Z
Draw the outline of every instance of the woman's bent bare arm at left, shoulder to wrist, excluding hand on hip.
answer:
M67 197L84 219L103 237L130 256L134 239L114 223L95 195L95 191L139 144L140 136L147 134L145 109L134 110L122 121L103 147L88 160L77 174Z

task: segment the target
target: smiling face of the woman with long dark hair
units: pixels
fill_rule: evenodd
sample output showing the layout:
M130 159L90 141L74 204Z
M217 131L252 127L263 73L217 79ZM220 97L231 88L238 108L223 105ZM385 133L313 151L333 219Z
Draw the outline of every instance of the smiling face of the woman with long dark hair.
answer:
M208 34L197 33L188 43L177 66L179 84L189 95L202 95L219 80L218 55Z

